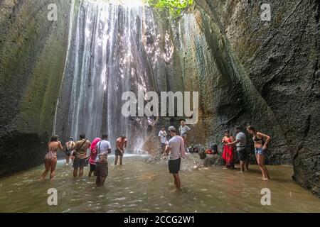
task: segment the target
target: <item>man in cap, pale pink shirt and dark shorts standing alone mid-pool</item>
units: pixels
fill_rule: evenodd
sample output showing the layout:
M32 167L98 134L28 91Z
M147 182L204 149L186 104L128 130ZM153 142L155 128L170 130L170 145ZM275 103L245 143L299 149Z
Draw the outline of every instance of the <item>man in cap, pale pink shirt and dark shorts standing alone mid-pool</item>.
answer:
M166 154L169 155L169 172L174 175L174 185L176 189L181 189L181 182L179 177L181 157L186 157L186 150L184 148L184 140L181 136L176 135L176 128L169 127L171 140L169 140L166 148Z

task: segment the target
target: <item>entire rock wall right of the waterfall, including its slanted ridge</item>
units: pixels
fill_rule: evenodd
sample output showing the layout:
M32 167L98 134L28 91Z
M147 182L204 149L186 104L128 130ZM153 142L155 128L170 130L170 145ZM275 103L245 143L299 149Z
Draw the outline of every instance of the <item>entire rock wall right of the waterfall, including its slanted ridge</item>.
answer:
M271 1L271 21L260 18L264 3L196 1L186 77L195 75L195 57L203 67L184 81L198 84L206 117L193 136L215 140L251 124L272 136L267 162L292 163L294 180L320 194L319 2Z

